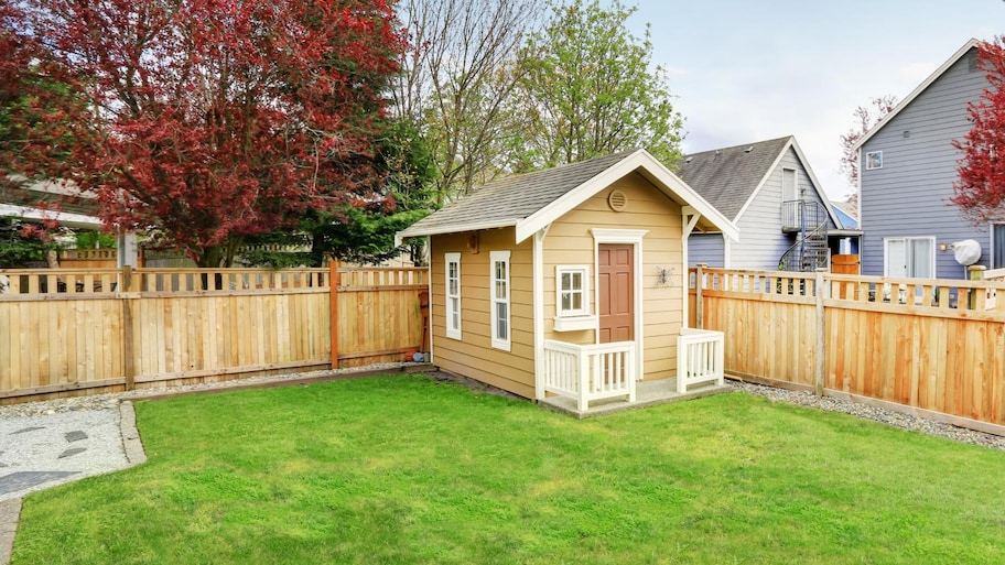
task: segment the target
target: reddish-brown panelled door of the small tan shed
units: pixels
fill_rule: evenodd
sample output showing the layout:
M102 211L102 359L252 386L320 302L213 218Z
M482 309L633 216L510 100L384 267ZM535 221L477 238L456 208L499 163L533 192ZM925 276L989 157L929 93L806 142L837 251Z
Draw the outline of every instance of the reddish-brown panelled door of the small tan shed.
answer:
M635 339L635 261L631 256L631 246L602 245L597 248L602 344Z

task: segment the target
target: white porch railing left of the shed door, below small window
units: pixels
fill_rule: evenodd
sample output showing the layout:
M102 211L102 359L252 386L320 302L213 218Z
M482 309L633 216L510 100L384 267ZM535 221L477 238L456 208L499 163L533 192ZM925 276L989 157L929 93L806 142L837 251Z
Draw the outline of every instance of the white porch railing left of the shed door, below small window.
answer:
M580 412L592 400L627 396L635 402L636 380L635 341L544 341L544 390L575 400Z

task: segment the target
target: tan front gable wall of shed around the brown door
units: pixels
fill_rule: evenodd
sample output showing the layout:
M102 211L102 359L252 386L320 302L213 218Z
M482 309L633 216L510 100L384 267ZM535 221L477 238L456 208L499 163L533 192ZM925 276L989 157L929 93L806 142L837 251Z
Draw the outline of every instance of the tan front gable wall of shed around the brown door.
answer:
M620 189L628 196L624 211L612 211L607 195ZM682 316L681 207L641 175L633 174L601 191L552 224L544 238L544 338L592 344L593 330L554 332L555 265L591 265L590 303L596 313L594 240L592 228L647 229L642 238L644 371L646 379L668 379L677 372L677 336ZM440 258L442 261L443 259ZM672 284L656 287L656 268L674 268Z

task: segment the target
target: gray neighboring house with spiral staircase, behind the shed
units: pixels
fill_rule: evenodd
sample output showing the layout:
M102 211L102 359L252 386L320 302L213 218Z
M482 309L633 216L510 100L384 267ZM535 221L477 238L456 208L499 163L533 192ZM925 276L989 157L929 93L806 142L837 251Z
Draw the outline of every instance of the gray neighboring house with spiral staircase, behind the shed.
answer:
M829 264L829 251L838 252L841 238L858 235L842 229L791 135L687 155L678 176L741 233L739 242L692 233L690 265L810 271Z

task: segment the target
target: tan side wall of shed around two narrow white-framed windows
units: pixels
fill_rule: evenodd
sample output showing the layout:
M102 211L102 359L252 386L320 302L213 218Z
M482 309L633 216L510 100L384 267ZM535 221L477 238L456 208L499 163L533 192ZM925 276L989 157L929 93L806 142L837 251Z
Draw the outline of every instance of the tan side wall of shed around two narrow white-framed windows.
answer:
M433 236L431 242L433 362L526 398L534 395L533 242L515 245L512 228ZM509 250L511 350L491 347L489 326L489 253ZM461 337L446 337L444 253L461 253ZM554 284L554 281L552 281Z

